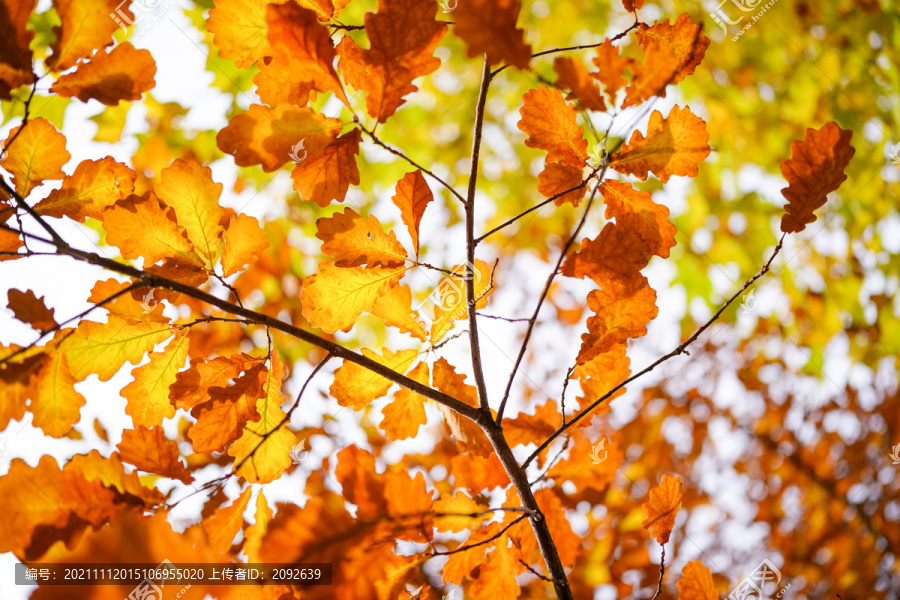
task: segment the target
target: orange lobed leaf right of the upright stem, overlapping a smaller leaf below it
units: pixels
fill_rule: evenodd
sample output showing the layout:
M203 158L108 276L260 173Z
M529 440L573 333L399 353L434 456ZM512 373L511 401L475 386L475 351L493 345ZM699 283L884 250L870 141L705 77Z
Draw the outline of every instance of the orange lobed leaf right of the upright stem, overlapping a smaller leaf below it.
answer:
M545 151L548 162L583 167L587 156L584 129L578 126L577 113L562 93L542 85L529 90L523 100L518 127L528 134L525 145Z

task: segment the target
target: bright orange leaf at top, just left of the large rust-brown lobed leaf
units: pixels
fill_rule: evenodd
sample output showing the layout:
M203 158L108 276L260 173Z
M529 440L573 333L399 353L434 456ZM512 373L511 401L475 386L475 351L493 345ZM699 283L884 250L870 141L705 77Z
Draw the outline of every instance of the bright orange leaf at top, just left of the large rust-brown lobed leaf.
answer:
M271 60L261 63L254 82L260 86L259 97L269 105L293 102L303 106L304 90L332 90L344 104L349 102L334 70L334 43L328 28L320 24L315 11L293 2L269 4L266 7ZM260 81L257 81L259 79ZM279 85L266 85L274 80ZM261 85L262 83L262 85ZM297 90L297 91L295 91ZM299 95L292 97L294 94Z

